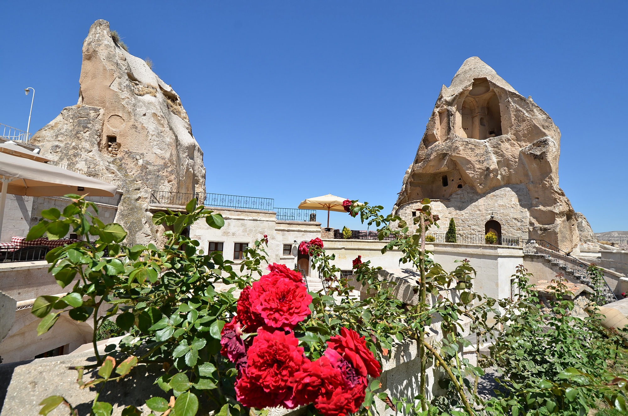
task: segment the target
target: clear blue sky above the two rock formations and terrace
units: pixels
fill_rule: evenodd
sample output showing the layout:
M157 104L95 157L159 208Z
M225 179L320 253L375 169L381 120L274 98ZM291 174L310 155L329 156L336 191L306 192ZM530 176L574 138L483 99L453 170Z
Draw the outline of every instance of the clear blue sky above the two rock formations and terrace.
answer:
M516 4L515 4L516 3ZM561 129L560 185L628 230L628 2L4 2L0 123L76 104L82 41L111 22L178 92L207 190L277 207L332 193L389 212L441 84L479 56ZM323 212L319 211L323 220ZM364 229L332 212L332 226Z

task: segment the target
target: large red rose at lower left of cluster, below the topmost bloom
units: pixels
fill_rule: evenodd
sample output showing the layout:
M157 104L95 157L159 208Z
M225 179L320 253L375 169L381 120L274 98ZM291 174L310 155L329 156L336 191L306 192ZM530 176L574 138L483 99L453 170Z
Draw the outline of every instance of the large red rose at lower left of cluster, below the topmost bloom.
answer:
M246 369L236 383L237 400L246 407L296 407L290 379L308 361L298 343L293 333L258 329L247 351Z

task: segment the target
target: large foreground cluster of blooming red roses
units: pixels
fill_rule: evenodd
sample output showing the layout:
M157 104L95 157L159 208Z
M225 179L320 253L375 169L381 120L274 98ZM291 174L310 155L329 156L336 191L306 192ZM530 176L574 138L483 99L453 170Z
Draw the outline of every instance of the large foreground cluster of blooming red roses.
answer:
M315 240L310 243L321 247ZM256 408L313 403L328 416L357 412L367 376L381 373L364 337L342 327L322 356L308 358L294 331L303 330L297 326L311 313L311 295L299 273L277 264L268 270L242 290L237 315L222 329L220 352L238 369L237 400Z

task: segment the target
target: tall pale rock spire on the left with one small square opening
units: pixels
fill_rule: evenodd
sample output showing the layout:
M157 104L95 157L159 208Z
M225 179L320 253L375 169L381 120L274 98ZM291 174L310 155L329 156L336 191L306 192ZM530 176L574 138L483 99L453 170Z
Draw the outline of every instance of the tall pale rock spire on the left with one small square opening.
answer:
M129 232L127 241L154 240L151 190L205 192L203 152L181 100L114 41L104 20L83 42L79 82L77 105L65 107L30 143L68 168L117 183L123 195L116 222Z

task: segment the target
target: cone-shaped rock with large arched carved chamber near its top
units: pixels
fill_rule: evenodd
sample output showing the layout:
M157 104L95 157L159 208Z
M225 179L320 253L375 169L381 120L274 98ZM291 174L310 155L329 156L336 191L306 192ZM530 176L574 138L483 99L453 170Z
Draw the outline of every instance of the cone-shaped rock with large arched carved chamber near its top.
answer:
M480 58L441 88L393 211L409 218L424 197L459 232L544 239L565 251L593 233L558 187L560 131Z

